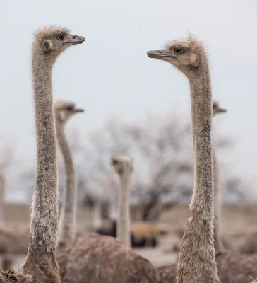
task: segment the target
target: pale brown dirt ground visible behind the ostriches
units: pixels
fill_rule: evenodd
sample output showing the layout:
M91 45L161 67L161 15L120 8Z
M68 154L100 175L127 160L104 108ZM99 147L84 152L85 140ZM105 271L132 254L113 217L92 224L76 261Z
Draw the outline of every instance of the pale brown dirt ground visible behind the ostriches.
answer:
M133 219L133 210L132 219ZM176 262L178 252L172 248L179 247L181 235L184 231L186 218L189 212L189 205L179 204L170 211L165 212L157 224L158 228L168 233L160 237L160 245L157 248L136 248L136 253L148 258L154 265L163 265ZM223 235L233 247L237 247L246 234L257 231L257 205L254 204L227 204L223 207L222 231ZM5 209L6 229L9 231L28 230L30 219L30 207L25 205L10 204ZM92 223L90 221L91 212L89 209L80 207L78 209L78 232L88 233ZM132 221L135 224L135 221ZM23 262L24 256L16 256L14 267L18 267Z

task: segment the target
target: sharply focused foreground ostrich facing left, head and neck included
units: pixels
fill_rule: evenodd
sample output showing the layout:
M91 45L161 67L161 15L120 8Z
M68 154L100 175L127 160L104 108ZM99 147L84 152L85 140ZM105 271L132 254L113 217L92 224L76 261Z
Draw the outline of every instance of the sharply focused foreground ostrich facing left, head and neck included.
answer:
M212 95L208 57L193 37L174 41L148 57L171 63L189 79L195 186L177 264L177 283L220 282L213 243Z

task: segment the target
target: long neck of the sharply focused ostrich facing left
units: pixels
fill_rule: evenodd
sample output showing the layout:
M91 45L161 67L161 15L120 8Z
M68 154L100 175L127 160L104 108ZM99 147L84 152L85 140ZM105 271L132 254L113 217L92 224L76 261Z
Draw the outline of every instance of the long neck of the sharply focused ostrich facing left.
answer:
M219 282L213 246L212 96L207 66L189 78L195 184L179 254L177 283ZM200 279L201 278L201 279Z

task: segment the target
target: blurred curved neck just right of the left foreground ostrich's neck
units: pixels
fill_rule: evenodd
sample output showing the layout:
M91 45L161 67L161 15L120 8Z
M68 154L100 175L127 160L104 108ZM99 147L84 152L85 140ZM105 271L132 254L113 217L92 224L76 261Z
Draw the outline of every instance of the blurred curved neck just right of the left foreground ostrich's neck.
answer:
M66 189L59 219L59 243L73 241L76 233L77 184L76 169L70 146L64 132L64 123L56 120L56 131L66 170Z

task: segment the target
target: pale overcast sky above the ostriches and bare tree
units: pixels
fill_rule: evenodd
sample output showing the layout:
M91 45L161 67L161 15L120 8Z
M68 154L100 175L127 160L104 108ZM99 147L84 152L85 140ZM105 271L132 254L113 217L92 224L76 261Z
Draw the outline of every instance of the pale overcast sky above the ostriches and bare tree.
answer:
M35 143L30 47L42 25L85 37L61 55L53 82L54 100L86 109L69 127L88 132L110 116L136 120L177 108L189 117L186 77L146 56L189 30L208 48L213 98L229 110L217 118L222 131L237 137L241 170L256 175L256 0L1 0L0 23L0 137Z

